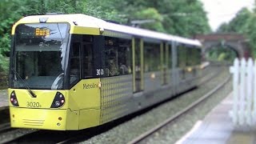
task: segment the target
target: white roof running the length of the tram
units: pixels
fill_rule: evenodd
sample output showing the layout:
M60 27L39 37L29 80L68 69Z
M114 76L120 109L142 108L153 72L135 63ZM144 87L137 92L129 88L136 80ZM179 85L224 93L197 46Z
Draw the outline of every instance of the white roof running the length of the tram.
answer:
M195 46L202 46L201 43L196 39L182 38L171 34L155 32L152 30L119 25L111 22L106 22L100 18L94 18L86 14L32 15L22 18L16 23L16 25L18 25L19 23L39 22L39 18L48 18L47 22L69 22L70 25L74 25L75 22L77 26L99 28L100 30L112 30L145 38L155 38L164 41L175 41Z

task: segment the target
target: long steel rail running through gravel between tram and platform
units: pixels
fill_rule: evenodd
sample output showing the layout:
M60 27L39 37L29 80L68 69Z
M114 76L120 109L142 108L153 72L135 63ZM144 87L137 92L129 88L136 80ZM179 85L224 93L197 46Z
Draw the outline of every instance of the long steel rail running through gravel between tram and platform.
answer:
M155 126L154 128L146 131L144 134L139 135L137 138L134 138L132 141L128 142L129 144L139 143L142 142L144 139L150 137L150 135L155 134L159 130L161 130L163 127L169 125L171 122L174 122L177 118L182 117L183 114L189 112L191 109L193 109L195 106L198 106L201 102L204 102L207 98L209 98L212 94L214 94L217 90L220 90L222 86L224 86L227 82L230 80L230 76L224 80L221 84L216 86L213 90L211 90L209 93L202 96L202 98L199 98L197 101L190 104L190 106L187 106L182 111L179 111L177 114L174 114L172 117L166 119L166 121L158 124L158 126Z

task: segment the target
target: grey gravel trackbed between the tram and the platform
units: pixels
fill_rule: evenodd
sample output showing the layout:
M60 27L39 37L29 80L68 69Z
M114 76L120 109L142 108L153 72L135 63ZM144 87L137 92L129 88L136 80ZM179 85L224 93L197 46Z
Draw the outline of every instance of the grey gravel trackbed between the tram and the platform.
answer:
M216 69L217 70L217 69ZM210 70L213 72L212 70ZM202 97L208 91L212 90L219 82L222 82L229 75L229 70L226 68L224 72L219 74L216 78L212 79L210 82L205 83L200 86L200 88L191 91L190 93L183 94L181 97L175 98L170 102L165 102L162 105L146 112L145 114L139 115L128 122L122 123L122 125L115 126L114 128L106 131L105 133L98 134L93 138L90 138L82 143L127 143L138 135L150 130L154 126L163 122L170 116L176 114L178 111L182 110L188 106L195 99ZM226 87L226 86L225 86ZM188 130L194 125L198 119L202 119L208 111L210 111L218 102L226 96L231 91L230 84L227 88L219 90L218 94L209 99L210 104L203 105L206 108L198 109L195 114L188 114L190 117L182 118L173 127L170 127L167 133L160 132L161 134L156 134L155 138L149 139L147 142L150 143L174 143L181 138L183 134L186 134ZM214 94L215 95L215 94ZM219 98L220 97L220 98ZM184 122L184 123L180 123ZM163 133L163 134L162 134Z

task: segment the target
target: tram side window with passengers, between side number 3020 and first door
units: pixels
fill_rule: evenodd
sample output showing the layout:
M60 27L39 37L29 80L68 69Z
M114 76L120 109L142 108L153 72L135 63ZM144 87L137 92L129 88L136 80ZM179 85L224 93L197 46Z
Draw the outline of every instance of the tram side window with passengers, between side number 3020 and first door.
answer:
M105 74L131 74L131 40L105 37Z

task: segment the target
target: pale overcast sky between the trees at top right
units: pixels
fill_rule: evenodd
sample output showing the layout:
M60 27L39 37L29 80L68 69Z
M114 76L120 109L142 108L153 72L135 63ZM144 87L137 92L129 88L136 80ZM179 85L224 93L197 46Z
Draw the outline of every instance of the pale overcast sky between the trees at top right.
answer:
M210 27L216 30L223 22L229 22L234 18L238 10L254 6L254 0L200 0L207 12Z

